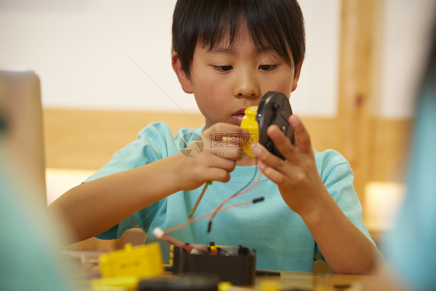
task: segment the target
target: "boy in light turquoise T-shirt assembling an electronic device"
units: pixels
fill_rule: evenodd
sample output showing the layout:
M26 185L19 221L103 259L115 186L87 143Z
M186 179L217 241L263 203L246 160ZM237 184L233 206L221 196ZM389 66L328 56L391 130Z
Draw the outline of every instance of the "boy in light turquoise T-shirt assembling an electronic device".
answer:
M244 110L258 105L267 91L289 98L296 89L305 49L298 3L180 0L172 34L172 67L183 90L194 94L205 125L181 128L175 137L165 123L147 126L86 183L54 202L51 207L79 240L100 233L99 238L115 239L138 227L147 233L146 243L155 241L156 227L166 230L188 220L206 181L214 182L195 216L212 211L259 173L256 159L241 158L241 147L222 137L245 133L239 126ZM334 151L314 152L299 118L289 122L295 146L277 126L268 130L286 161L253 147L265 176L232 200L264 197L262 203L216 214L210 233L203 219L170 236L255 248L258 269L310 272L323 256L334 272L368 272L377 248L362 222L347 161ZM185 134L201 137L201 154L180 152L198 145L184 143ZM161 245L167 260L168 246Z

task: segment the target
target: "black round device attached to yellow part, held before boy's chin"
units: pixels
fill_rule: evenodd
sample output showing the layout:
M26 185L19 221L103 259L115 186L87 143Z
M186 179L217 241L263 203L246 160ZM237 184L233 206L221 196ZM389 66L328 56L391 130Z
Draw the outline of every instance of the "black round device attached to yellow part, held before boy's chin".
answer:
M267 135L267 128L276 124L294 144L294 130L287 119L292 115L289 100L281 92L266 93L259 104L256 120L259 122L259 142L276 156L285 159Z

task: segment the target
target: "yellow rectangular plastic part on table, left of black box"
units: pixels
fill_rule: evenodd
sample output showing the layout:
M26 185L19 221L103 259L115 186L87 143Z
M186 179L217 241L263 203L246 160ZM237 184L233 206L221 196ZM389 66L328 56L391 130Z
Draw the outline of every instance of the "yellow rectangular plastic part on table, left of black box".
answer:
M116 250L98 257L101 277L150 278L164 272L162 252L157 242L139 247L126 244L123 250Z

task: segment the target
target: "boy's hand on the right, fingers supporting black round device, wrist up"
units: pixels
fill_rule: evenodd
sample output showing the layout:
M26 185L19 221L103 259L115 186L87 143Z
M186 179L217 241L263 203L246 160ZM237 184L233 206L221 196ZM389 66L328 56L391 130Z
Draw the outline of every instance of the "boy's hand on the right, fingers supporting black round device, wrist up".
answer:
M317 198L328 194L328 190L316 168L309 133L298 116L289 116L288 122L294 128L294 145L277 125L271 125L267 130L268 136L285 160L259 143L251 149L261 161L260 167L265 176L278 185L286 204L303 216L316 209L317 204L322 201Z

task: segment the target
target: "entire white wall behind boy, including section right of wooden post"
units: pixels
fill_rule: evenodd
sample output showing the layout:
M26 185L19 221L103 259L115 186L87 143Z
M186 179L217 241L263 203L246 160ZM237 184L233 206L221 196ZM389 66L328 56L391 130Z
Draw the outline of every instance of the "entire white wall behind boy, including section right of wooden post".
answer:
M416 60L424 55L422 27L428 26L429 7L435 0L385 2L382 98L376 108L383 116L410 116L421 68ZM0 67L37 72L45 108L198 112L193 96L181 90L171 69L174 3L2 0ZM333 117L340 1L300 0L300 5L306 20L307 54L291 105L300 115Z

